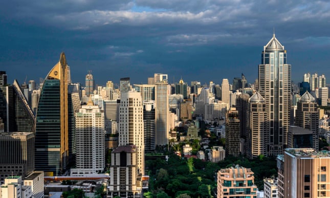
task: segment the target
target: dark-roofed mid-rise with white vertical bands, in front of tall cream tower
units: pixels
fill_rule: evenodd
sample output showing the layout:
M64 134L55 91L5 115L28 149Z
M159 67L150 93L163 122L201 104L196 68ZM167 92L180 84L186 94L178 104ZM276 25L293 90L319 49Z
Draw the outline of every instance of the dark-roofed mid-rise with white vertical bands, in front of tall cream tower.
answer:
M135 145L119 146L111 152L108 195L141 197L142 182L138 175L138 149Z

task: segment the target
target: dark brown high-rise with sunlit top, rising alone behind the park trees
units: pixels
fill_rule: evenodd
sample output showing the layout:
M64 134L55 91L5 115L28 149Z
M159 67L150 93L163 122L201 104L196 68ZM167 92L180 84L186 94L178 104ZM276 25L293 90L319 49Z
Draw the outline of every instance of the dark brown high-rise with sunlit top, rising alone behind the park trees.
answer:
M226 114L226 156L240 155L240 123L236 108Z

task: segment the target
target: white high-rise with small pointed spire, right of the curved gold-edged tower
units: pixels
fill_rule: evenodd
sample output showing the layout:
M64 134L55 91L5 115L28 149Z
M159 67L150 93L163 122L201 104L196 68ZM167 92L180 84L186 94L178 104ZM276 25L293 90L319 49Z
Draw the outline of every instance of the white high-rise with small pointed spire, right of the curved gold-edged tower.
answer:
M90 96L90 101L81 106L75 118L76 168L92 174L100 173L105 165L104 113L98 105L94 105Z

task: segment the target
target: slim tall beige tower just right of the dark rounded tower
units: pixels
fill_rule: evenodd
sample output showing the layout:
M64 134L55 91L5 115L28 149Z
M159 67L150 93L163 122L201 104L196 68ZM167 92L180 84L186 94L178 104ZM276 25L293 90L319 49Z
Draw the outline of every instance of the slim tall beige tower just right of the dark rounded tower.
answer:
M156 145L168 144L169 109L167 74L155 74Z

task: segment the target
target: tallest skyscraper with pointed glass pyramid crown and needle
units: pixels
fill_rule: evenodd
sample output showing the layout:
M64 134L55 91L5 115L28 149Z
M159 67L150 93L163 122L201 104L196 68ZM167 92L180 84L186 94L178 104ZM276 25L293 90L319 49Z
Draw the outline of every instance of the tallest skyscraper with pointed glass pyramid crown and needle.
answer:
M275 34L263 47L258 65L258 91L270 113L269 155L283 152L288 144L291 108L291 65L287 64L287 51Z

